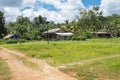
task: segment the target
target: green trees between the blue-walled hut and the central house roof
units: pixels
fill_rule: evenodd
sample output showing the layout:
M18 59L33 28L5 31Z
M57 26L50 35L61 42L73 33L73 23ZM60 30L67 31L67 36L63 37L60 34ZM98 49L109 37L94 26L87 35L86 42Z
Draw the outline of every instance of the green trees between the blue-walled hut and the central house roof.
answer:
M32 21L28 17L19 16L16 22L10 22L6 27L8 33L15 33L22 39L40 40L44 31L57 26L53 21L48 24L47 19L42 16L35 17Z

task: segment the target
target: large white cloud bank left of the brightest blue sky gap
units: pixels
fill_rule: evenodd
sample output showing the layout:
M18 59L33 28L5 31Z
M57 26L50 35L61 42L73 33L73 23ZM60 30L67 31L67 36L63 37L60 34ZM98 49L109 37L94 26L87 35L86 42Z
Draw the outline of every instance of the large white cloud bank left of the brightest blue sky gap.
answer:
M60 9L60 11L50 11L43 7L35 6L36 1L53 5L56 9ZM47 17L48 20L61 23L66 19L73 20L74 16L78 14L78 9L84 8L81 0L67 0L64 3L61 0L22 0L20 4L21 6L4 7L6 21L15 21L16 17L20 15L31 19L42 15L43 17ZM25 8L28 6L31 8ZM35 11L35 8L38 8L38 11ZM23 11L21 11L22 9Z

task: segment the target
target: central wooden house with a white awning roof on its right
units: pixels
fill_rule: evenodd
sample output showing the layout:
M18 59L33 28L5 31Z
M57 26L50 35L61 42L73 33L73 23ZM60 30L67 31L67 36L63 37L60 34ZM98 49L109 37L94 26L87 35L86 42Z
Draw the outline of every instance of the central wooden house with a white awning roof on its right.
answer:
M73 33L56 28L43 32L43 35L46 40L67 40L70 39Z

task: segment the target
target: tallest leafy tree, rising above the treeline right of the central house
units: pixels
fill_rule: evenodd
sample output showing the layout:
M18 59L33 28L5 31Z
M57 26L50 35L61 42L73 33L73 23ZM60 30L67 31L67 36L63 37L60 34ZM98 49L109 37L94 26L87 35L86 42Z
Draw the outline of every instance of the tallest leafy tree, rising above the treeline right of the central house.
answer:
M102 12L99 7L93 7L90 10L80 9L80 18L78 19L78 25L82 32L84 31L99 31L104 21Z

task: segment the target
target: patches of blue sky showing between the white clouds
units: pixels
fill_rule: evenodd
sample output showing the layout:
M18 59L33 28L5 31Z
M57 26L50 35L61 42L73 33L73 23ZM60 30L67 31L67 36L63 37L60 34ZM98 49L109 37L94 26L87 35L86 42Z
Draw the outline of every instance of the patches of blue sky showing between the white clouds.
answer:
M99 6L101 0L81 0L85 8L89 8L90 6ZM67 0L61 0L61 3L67 3ZM51 5L49 3L41 2L36 0L34 4L34 10L38 11L40 7L43 7L49 11L60 11L60 9L57 9L54 5ZM26 6L21 9L21 11L24 11L25 9L31 9L30 6Z

